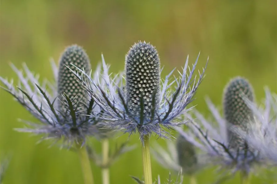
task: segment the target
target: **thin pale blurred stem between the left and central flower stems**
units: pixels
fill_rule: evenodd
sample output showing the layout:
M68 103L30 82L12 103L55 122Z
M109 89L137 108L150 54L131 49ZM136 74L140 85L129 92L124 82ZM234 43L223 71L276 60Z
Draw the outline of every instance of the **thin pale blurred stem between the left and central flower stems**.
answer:
M105 166L109 162L109 139L102 140L102 164ZM102 183L110 183L109 168L102 168Z

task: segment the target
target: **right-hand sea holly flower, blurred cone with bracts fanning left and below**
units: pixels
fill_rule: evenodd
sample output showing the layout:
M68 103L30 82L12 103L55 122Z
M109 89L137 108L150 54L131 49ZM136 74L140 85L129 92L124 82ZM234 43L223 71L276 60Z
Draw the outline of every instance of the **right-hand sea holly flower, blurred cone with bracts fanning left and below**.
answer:
M185 114L186 118L192 120L186 124L189 131L185 132L176 128L181 135L202 151L201 155L204 159L201 162L213 166L218 165L220 170L227 169L225 171L227 173L230 171L230 176L239 171L242 173L243 180L248 179L248 174L255 166L268 166L268 159L246 139L251 132L253 119L258 115L248 105L254 104L253 95L249 95L253 93L249 90L249 86L247 80L240 77L231 80L227 85L223 100L225 118L221 117L215 105L207 99L212 119L207 120L201 113L194 110L192 115ZM231 135L231 139L228 135Z

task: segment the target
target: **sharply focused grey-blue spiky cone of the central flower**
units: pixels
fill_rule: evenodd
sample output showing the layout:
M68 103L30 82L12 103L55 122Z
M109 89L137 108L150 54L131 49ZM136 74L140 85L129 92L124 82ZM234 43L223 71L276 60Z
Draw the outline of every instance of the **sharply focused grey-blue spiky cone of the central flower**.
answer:
M138 115L143 110L144 115L149 116L157 110L161 88L160 65L158 51L150 43L138 42L127 53L126 103L132 113Z

